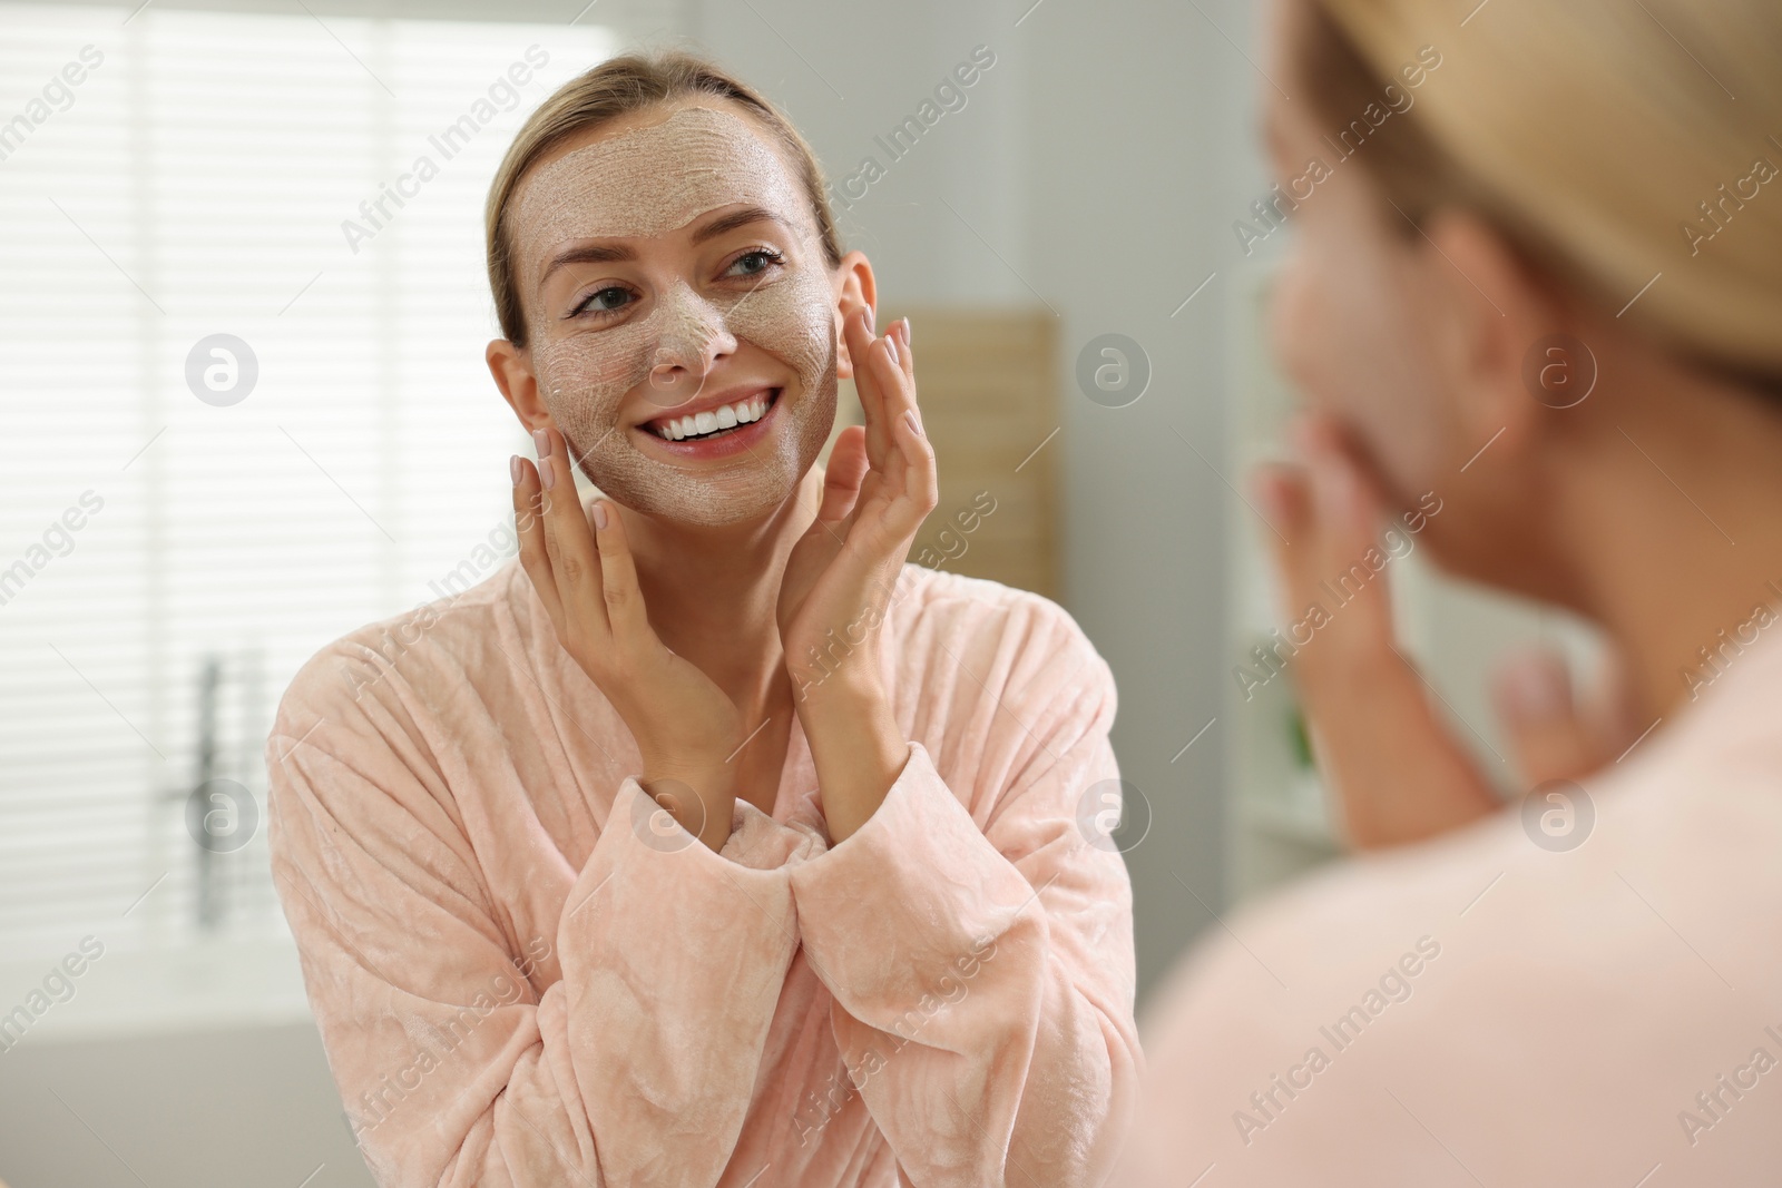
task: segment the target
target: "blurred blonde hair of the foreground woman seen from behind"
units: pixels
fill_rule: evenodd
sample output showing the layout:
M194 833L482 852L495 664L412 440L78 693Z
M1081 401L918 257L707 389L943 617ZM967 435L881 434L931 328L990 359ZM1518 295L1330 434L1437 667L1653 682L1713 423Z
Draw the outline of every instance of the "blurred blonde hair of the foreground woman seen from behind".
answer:
M1442 55L1397 151L1361 153L1410 217L1479 208L1679 353L1782 381L1782 4L1488 0L1465 27L1452 0L1313 5L1301 59L1338 125L1344 55L1374 80Z

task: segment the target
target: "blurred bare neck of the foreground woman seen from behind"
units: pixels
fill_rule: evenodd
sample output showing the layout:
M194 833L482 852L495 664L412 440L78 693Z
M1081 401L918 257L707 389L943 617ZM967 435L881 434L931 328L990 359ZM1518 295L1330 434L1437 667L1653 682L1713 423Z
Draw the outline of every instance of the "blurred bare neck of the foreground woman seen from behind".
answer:
M1643 395L1597 435L1561 520L1579 609L1622 648L1652 720L1737 666L1759 609L1782 607L1782 410L1702 381Z

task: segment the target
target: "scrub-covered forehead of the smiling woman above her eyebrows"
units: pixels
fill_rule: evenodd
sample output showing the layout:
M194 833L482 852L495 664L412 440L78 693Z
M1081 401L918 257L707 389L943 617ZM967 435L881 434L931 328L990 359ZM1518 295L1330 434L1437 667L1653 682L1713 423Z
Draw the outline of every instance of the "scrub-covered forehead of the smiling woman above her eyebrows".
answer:
M800 185L772 139L720 107L677 107L602 126L527 175L515 232L536 253L568 239L666 235L734 203L798 224Z

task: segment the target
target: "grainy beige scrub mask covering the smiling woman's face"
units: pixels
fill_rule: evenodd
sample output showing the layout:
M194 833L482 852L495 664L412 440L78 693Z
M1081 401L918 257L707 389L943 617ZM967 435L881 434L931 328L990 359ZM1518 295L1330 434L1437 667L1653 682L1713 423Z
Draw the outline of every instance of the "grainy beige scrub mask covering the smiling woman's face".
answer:
M611 328L544 308L536 278L567 240L659 237L740 203L802 230L797 255L759 283L702 294L675 278L645 296L647 313ZM545 408L602 492L636 511L700 525L734 524L791 495L836 415L834 294L804 191L761 132L732 112L681 109L538 169L513 226L533 296L529 319L542 331L531 356ZM793 374L763 443L699 465L645 454L636 435L649 429L620 427L625 397L643 388L652 408L681 404L702 383L709 353L731 353L738 342ZM652 385L665 376L679 381Z

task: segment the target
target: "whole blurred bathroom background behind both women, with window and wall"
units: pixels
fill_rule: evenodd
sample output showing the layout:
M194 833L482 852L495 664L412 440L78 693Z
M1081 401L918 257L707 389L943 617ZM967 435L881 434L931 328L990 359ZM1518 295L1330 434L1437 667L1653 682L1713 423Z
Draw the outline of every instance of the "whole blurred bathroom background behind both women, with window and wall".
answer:
M0 0L0 1179L371 1183L267 876L264 739L324 643L513 554L481 203L524 116L640 45L781 103L911 315L943 472L912 559L1057 598L1112 664L1140 1017L1201 930L1333 857L1290 677L1237 675L1281 622L1244 476L1294 401L1258 20ZM1508 782L1486 657L1588 641L1392 574Z

